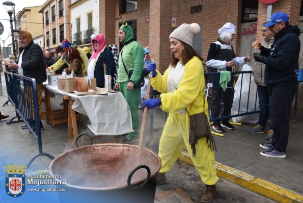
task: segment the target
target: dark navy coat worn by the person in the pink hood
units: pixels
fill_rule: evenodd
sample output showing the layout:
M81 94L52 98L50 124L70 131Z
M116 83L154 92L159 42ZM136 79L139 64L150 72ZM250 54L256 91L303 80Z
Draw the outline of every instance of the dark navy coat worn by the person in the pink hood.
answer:
M108 48L105 48L103 50L96 62L94 77L97 80L97 87L105 87L103 63L106 65L106 74L111 75L112 78L114 78L114 73L116 69L114 55Z

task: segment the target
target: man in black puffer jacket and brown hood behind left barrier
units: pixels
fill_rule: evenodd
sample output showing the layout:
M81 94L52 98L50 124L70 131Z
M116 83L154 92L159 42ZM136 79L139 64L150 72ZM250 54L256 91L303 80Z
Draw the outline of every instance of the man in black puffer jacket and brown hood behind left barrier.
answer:
M39 105L40 130L44 130L42 119L42 90L43 82L46 81L46 69L43 61L43 52L41 47L34 43L32 34L23 30L19 32L21 47L19 48L19 62L10 64L10 68L18 68L18 73L26 77L34 78L37 83L37 95ZM34 119L34 118L33 118ZM22 129L27 126L23 125Z

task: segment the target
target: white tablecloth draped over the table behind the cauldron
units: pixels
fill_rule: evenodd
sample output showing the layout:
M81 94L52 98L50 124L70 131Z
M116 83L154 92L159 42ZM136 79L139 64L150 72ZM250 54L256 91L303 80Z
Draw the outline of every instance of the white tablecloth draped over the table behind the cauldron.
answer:
M74 99L72 109L89 117L88 128L95 135L122 135L133 132L131 114L121 92L102 95L77 96L45 84L44 87L54 94L68 95Z

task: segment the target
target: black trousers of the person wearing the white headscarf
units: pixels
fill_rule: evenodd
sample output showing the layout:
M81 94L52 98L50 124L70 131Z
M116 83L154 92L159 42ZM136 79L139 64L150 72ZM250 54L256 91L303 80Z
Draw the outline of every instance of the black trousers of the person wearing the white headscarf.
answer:
M225 91L221 87L212 88L212 107L211 118L217 118L220 115L222 109L222 116L229 116L233 104L233 88L227 88ZM221 105L223 102L223 107ZM229 119L223 119L222 121L228 122ZM214 124L219 124L221 121L214 121Z

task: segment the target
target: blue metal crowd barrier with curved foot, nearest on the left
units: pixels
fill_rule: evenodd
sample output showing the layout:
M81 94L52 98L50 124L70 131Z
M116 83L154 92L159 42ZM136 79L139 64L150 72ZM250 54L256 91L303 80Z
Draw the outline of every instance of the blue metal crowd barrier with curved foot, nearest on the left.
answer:
M14 74L14 87L15 87L15 107L16 113L21 117L23 122L27 125L32 135L38 141L39 154L34 156L26 165L30 167L33 161L39 156L46 156L53 160L54 157L43 153L41 130L40 130L40 118L39 118L39 106L38 106L38 94L36 80L29 77L24 77L18 74Z

